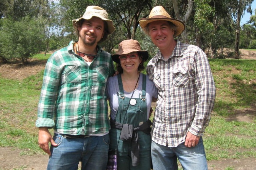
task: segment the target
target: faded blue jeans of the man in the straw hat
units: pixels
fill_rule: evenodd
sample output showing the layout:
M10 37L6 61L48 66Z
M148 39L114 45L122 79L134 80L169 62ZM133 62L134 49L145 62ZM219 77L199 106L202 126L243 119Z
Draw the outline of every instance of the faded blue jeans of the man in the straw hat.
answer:
M168 147L152 141L151 156L154 170L177 170L177 158L183 170L208 169L202 137L198 145L191 148L185 147L184 143L177 147Z

